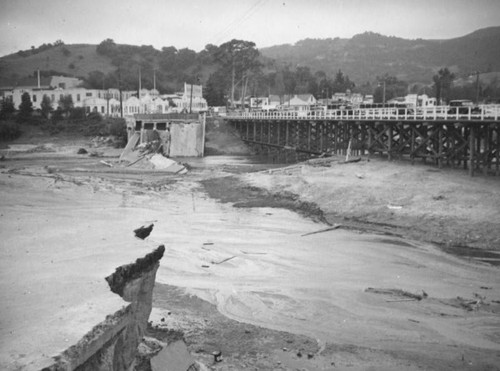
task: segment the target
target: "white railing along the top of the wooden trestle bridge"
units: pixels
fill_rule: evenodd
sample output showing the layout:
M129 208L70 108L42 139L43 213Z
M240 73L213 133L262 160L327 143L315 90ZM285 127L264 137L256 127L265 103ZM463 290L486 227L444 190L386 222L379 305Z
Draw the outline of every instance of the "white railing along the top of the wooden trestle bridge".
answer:
M349 108L311 111L229 112L232 119L351 121L499 121L500 104L474 107Z

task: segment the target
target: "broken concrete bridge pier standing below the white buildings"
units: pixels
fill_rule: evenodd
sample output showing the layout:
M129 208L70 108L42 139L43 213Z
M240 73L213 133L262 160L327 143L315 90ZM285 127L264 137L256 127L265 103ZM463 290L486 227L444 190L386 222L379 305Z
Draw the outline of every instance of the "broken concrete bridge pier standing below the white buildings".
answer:
M170 132L169 157L203 157L205 114L137 114L126 121L129 140L127 147L131 149L157 140L158 137L162 144L168 145L167 132Z

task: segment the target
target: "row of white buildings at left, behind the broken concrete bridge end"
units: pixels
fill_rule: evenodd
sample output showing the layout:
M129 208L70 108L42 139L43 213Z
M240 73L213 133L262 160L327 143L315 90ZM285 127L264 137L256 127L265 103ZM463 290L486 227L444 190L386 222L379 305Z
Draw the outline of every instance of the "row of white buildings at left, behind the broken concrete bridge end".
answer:
M3 99L11 99L19 107L22 96L28 93L33 109L41 109L44 96L50 99L55 110L65 97L71 97L74 107L84 108L87 113L98 112L105 116L120 117L134 114L204 112L208 110L200 85L184 84L184 91L161 95L156 89L122 91L118 89L86 89L79 87L82 81L64 76L50 80L38 77L35 84L2 87Z

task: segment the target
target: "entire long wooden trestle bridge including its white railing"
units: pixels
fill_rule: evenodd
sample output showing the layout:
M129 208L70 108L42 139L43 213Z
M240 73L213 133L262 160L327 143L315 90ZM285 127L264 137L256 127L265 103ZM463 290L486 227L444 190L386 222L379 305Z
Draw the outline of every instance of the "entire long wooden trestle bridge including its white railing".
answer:
M278 152L381 154L500 175L500 105L253 111L225 120L243 141Z

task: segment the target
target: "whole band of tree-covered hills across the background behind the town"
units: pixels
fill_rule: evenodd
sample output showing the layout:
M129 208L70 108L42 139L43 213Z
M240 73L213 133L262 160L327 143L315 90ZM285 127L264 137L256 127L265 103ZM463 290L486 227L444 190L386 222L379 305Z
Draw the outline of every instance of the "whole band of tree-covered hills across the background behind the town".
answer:
M248 95L311 93L317 98L350 89L382 99L408 92L430 93L434 77L446 68L449 76L465 81L450 98L476 97L478 86L468 80L500 72L500 27L478 30L449 40L408 40L372 32L350 39L306 39L294 45L257 50L251 41L231 40L189 48L116 44L66 45L58 40L0 58L0 86L15 86L21 79L62 74L79 77L88 88L141 87L173 93L183 84L202 84L209 105ZM154 80L154 81L153 81ZM491 79L490 79L491 80ZM467 82L469 81L469 82ZM479 95L499 97L499 81L483 84ZM477 85L477 84L476 84Z

